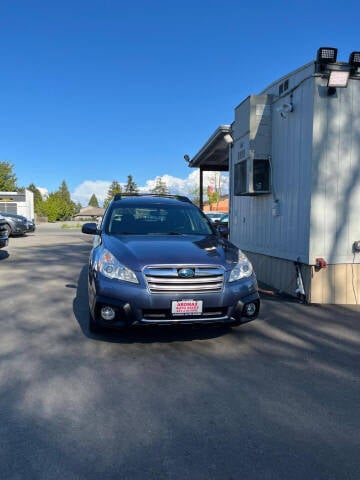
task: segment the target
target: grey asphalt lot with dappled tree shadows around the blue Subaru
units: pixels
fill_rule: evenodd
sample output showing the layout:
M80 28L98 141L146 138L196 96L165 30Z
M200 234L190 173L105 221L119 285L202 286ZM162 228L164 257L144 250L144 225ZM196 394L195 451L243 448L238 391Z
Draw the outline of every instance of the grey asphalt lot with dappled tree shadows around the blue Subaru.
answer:
M90 247L41 224L0 250L1 478L360 478L359 306L90 335Z

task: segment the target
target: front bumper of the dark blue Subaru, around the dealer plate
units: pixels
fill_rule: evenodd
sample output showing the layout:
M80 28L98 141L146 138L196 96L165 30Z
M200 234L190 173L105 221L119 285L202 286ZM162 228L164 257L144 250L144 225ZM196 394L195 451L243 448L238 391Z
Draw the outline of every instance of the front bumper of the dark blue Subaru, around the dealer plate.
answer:
M174 316L171 303L176 300L201 300L201 314ZM244 307L255 304L255 312L247 315ZM219 293L161 293L151 294L138 284L127 284L106 279L89 277L89 306L92 317L99 325L126 327L141 324L209 324L246 323L258 316L260 299L256 277L227 283ZM101 317L101 309L111 307L115 312L112 320Z

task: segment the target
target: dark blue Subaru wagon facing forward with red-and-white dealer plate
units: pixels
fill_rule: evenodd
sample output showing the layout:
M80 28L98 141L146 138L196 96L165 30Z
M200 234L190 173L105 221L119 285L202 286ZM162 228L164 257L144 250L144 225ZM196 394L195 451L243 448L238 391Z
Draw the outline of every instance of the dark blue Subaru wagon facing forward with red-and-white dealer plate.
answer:
M253 267L187 197L116 195L94 235L89 329L240 325L258 316Z

